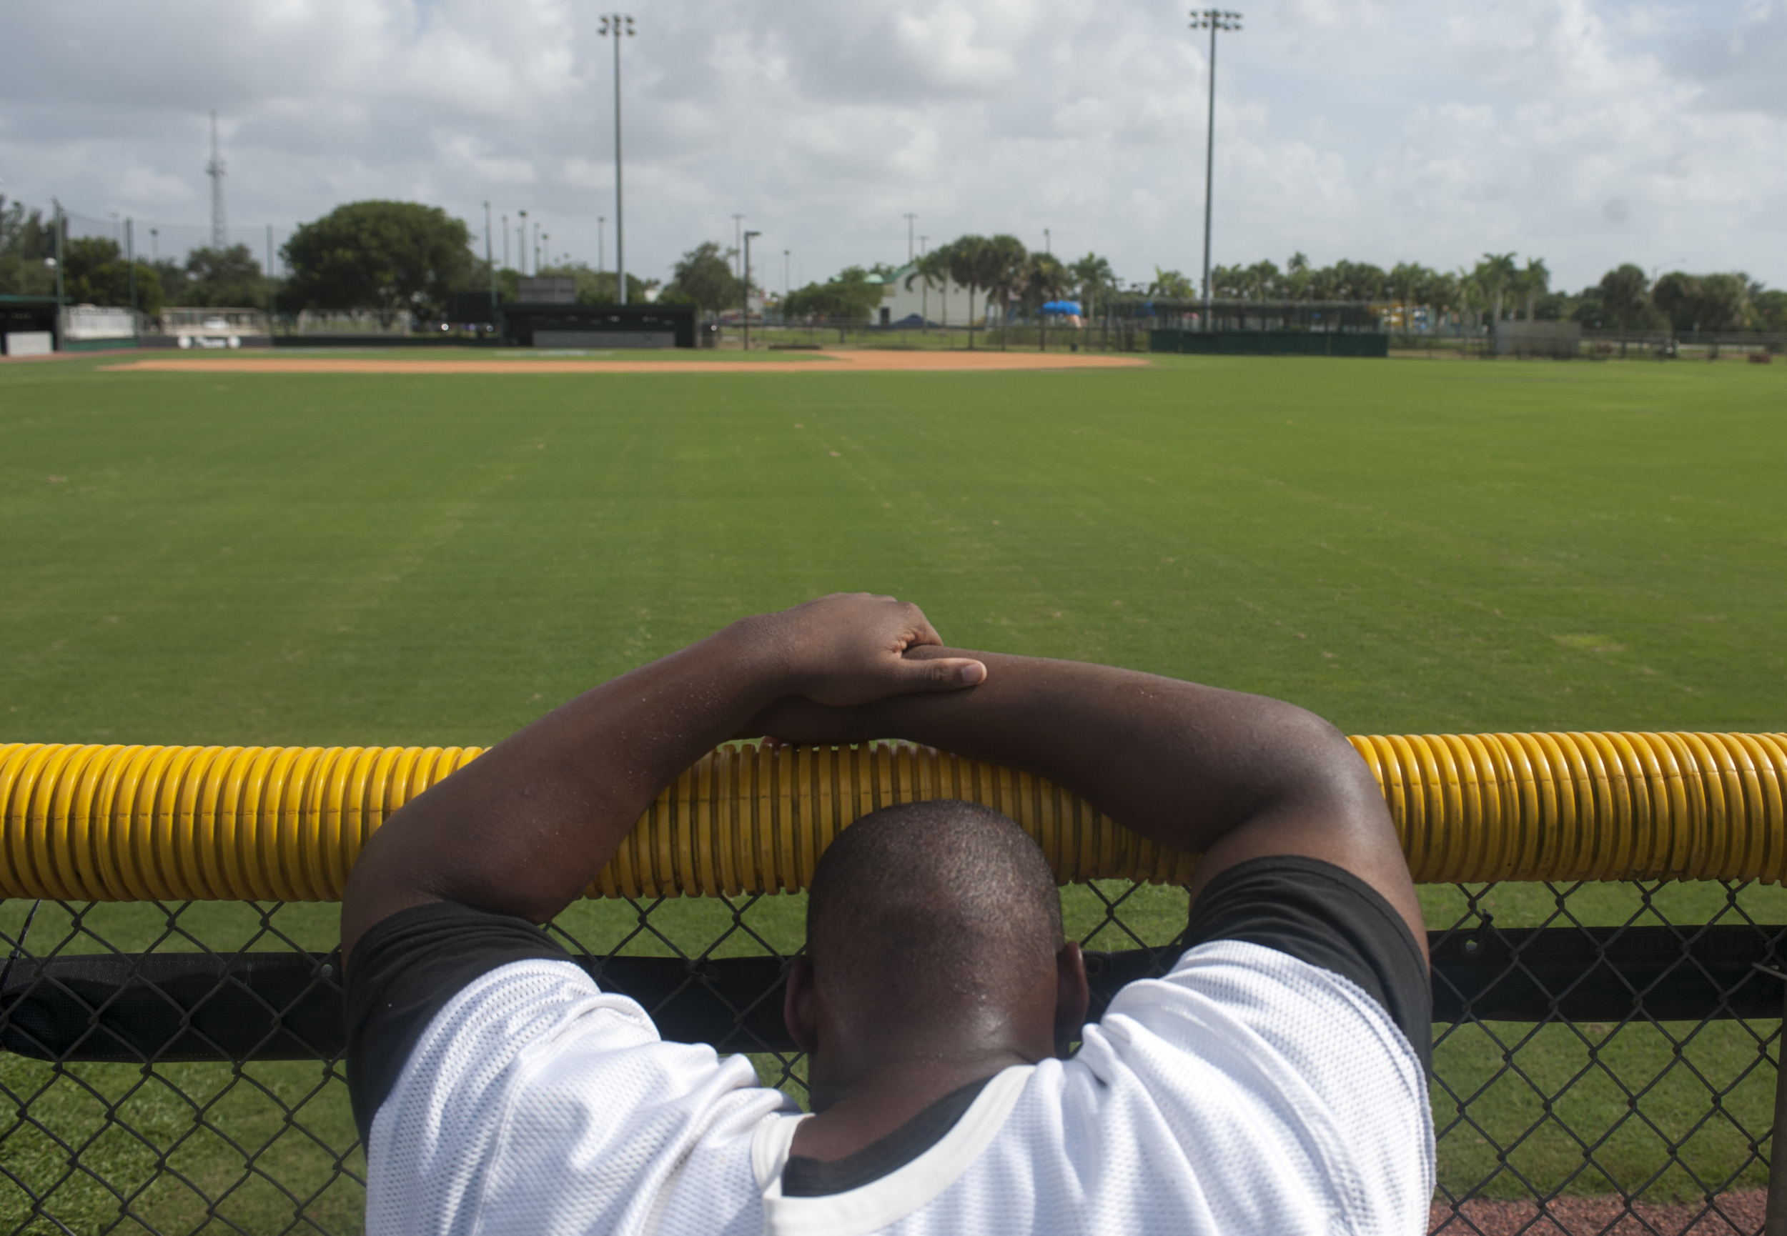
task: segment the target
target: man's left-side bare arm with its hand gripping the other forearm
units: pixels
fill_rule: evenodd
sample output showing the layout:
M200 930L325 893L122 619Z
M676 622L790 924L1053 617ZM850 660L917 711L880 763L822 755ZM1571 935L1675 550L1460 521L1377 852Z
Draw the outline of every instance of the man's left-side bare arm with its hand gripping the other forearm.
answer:
M658 791L767 704L951 691L979 663L938 645L917 605L865 593L743 618L584 691L395 813L348 879L341 943L434 900L543 922L577 897Z

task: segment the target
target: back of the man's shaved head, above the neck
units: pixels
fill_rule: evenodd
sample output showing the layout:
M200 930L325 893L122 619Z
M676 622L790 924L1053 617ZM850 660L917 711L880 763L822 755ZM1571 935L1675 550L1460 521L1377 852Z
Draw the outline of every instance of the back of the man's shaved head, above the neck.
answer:
M1061 898L1011 820L972 802L883 807L845 829L806 902L813 977L840 1013L949 1016L1054 973Z

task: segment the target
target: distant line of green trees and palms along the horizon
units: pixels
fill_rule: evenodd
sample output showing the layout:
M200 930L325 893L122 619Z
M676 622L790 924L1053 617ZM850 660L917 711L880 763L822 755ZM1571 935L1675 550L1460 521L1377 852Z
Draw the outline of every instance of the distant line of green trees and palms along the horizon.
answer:
M55 225L43 211L0 198L0 293L45 295L55 288L46 259L55 252ZM418 202L350 202L298 227L281 248L286 277L270 280L247 245L195 248L184 259L127 263L107 238L64 238L63 289L77 302L129 305L132 275L136 307L159 313L164 305L275 304L302 309L375 309L386 320L399 314L440 318L454 291L484 291L491 268L472 248L472 232L441 207ZM706 241L683 254L661 302L692 304L706 313L742 307L745 284L738 254ZM541 268L541 275L575 280L577 300L611 304L617 277L583 263ZM499 291L515 298L518 275L495 271ZM1063 263L1031 252L1015 236L960 236L904 268L847 266L824 282L792 289L783 304L788 318L861 320L881 304L886 280L906 288L956 284L969 293L969 316L995 305L1001 316L1028 316L1051 300L1076 298L1097 316L1117 298L1153 296L1197 300L1196 280L1176 270L1124 286L1108 259L1097 254ZM1623 264L1598 284L1576 293L1553 291L1542 259L1483 254L1455 271L1421 263L1390 268L1337 261L1315 266L1296 254L1279 268L1272 261L1212 270L1212 295L1222 300L1367 300L1426 305L1444 320L1485 325L1503 318L1574 318L1612 330L1787 330L1787 291L1764 288L1744 273L1669 271L1651 280L1640 266ZM627 300L642 302L656 280L627 275Z

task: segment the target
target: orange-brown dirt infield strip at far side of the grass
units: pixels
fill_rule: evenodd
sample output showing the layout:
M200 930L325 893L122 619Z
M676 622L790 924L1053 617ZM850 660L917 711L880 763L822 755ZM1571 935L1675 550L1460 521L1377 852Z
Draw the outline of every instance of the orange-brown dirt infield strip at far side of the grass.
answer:
M1133 370L1144 357L1083 352L810 352L799 361L581 361L516 357L302 357L302 355L170 355L100 368L157 373L985 373L1010 370Z

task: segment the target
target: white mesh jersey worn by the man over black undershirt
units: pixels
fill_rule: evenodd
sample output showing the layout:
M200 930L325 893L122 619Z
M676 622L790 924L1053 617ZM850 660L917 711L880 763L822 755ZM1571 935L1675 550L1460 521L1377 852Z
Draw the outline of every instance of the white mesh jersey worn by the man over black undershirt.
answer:
M929 1150L783 1197L802 1116L743 1056L665 1043L575 965L516 961L429 1022L372 1125L372 1232L1426 1231L1415 1050L1333 972L1219 940L1117 993L1070 1061L995 1077Z

